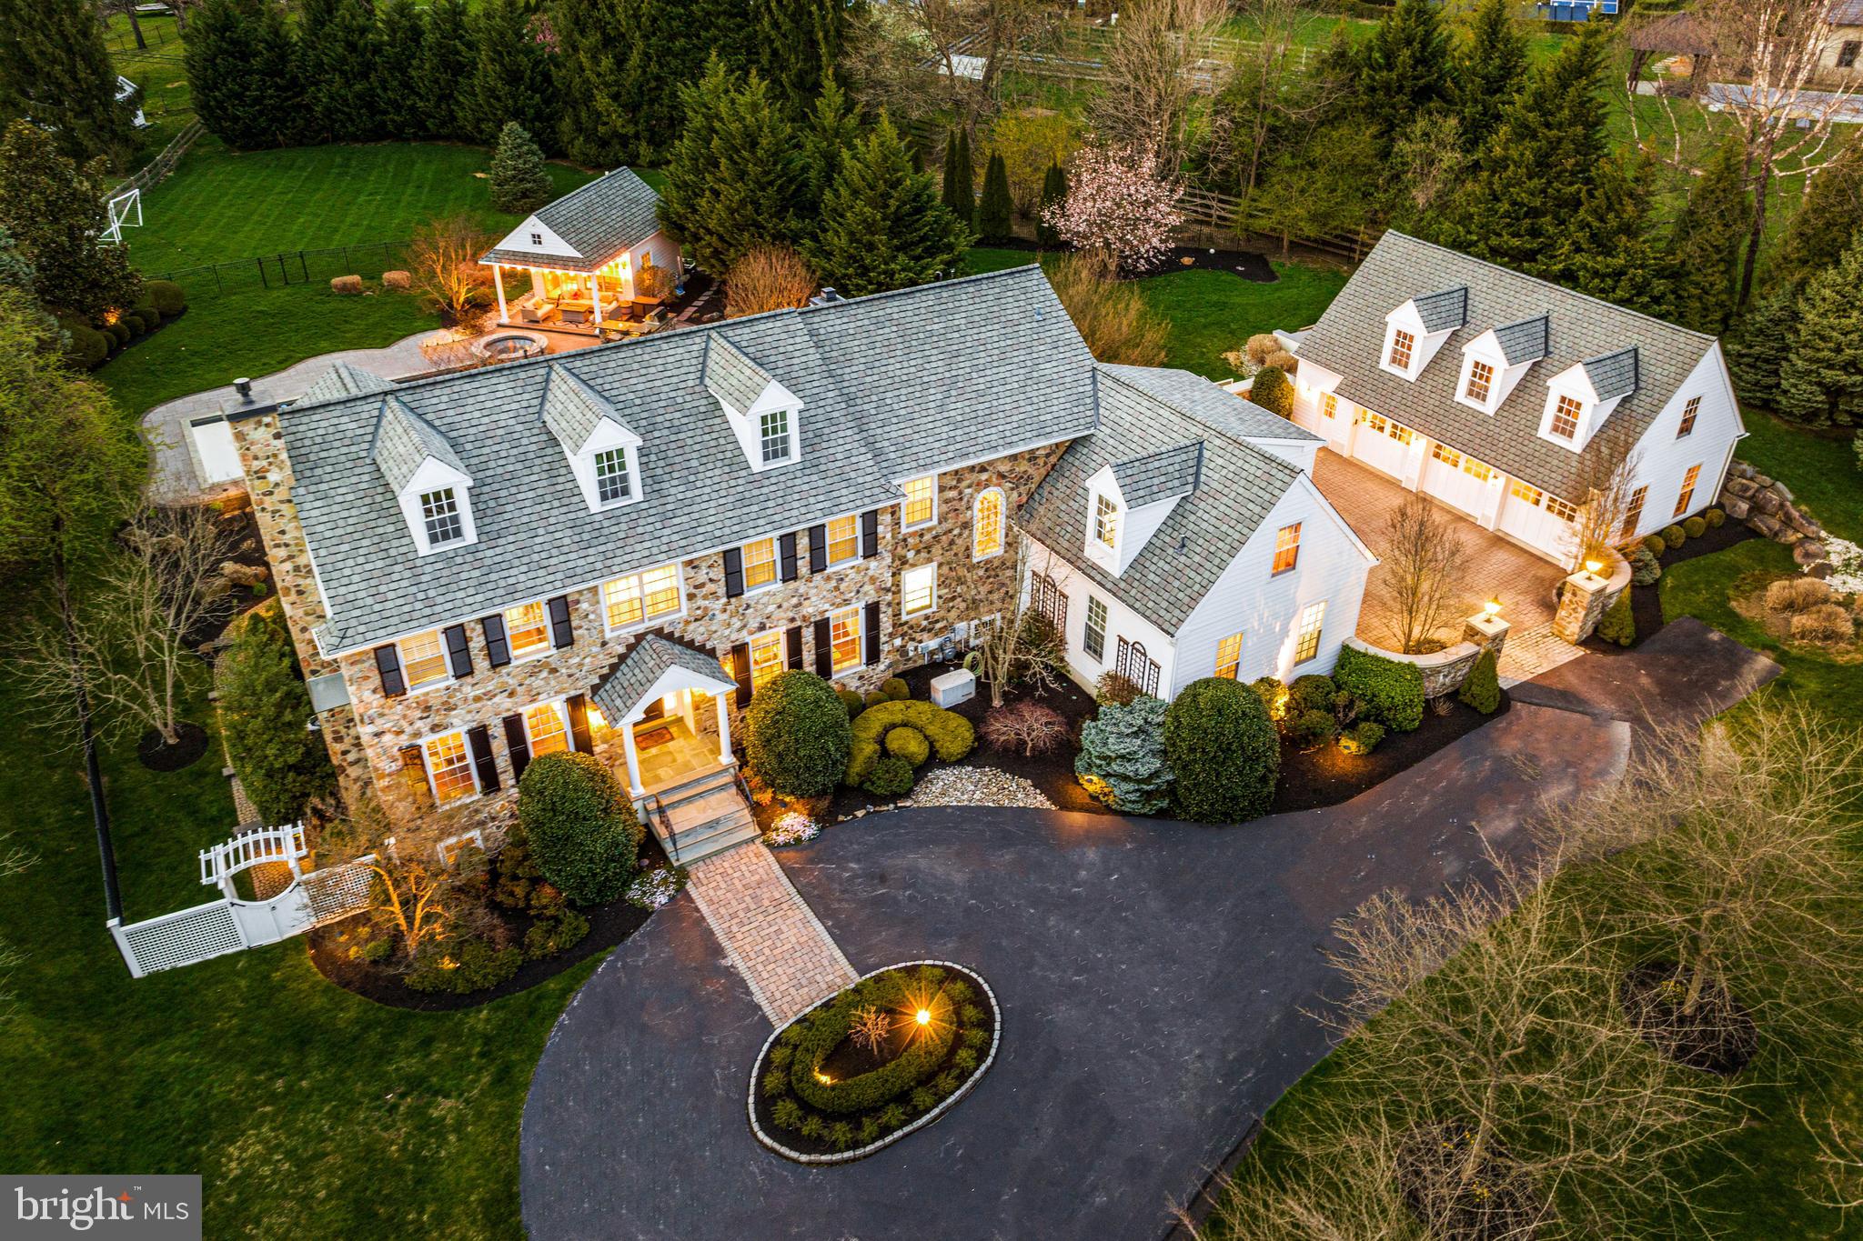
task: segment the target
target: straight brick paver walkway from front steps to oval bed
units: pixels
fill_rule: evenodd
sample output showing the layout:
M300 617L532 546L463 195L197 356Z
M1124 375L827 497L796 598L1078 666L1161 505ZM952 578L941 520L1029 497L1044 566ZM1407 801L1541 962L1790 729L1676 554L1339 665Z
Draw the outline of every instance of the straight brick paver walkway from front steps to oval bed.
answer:
M773 1025L853 984L853 966L762 841L695 861L687 891Z

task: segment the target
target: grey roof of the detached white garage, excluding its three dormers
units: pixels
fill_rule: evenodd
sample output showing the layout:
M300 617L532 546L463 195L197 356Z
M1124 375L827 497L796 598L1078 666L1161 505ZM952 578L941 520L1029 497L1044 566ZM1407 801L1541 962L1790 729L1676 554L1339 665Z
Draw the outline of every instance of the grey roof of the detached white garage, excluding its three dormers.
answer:
M1414 381L1379 367L1384 316L1416 298L1418 288L1444 285L1468 287L1468 324L1444 342ZM1462 346L1496 324L1518 324L1541 314L1546 316L1548 354L1507 400L1492 415L1457 402ZM1306 335L1300 361L1339 374L1341 398L1397 419L1535 487L1582 502L1576 491L1584 478L1593 476L1610 437L1593 437L1582 454L1541 439L1546 380L1574 363L1630 346L1636 346L1636 391L1623 398L1604 426L1625 428L1641 439L1669 396L1714 348L1714 337L1392 231ZM1613 376L1619 374L1621 363L1613 368Z

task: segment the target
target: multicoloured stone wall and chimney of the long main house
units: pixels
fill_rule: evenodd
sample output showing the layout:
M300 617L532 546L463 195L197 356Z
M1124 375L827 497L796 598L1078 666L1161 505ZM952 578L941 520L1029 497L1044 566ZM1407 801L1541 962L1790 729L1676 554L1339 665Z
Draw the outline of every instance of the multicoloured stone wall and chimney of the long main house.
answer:
M343 778L345 796L354 798L374 787L395 821L430 813L432 796L417 763L402 761L402 746L436 733L486 724L501 789L496 796L447 807L458 830L496 826L512 793L510 754L501 718L538 701L587 694L628 653L641 631L607 634L600 590L568 595L570 625L576 640L505 668L490 668L483 631L468 623L473 674L425 690L386 696L371 651L356 651L335 661L317 653L311 631L326 620L322 597L309 567L304 530L291 502L291 463L285 456L278 415L263 415L233 424L235 443L246 463L259 530L272 558L279 601L291 627L298 657L307 675L341 672L350 705L322 716L332 759ZM803 627L803 668L814 668L814 620L850 605L881 601L881 662L876 668L838 677L838 685L857 690L877 685L898 670L920 662L917 644L943 636L961 620L1004 610L1015 594L1013 530L1010 523L1043 478L1060 447L1019 452L999 461L950 471L939 476L937 523L911 534L898 532L900 510L879 512L879 554L809 571L809 534L797 532L799 577L728 599L725 595L725 556L693 556L682 564L686 610L650 625L699 649L728 655L730 647L771 629ZM971 502L989 486L1004 489L1006 553L989 560L971 556ZM751 532L755 534L755 532ZM911 623L898 620L900 569L937 560L937 608ZM522 603L512 599L509 603ZM436 618L449 620L449 618ZM730 705L732 737L741 737L738 707ZM715 735L710 707L697 713L700 733ZM596 754L617 768L620 742L596 733Z

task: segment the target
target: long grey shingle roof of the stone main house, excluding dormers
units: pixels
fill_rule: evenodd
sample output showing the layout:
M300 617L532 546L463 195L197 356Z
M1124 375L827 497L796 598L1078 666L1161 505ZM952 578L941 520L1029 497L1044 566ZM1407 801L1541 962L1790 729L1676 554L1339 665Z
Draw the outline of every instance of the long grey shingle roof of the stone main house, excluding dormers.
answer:
M704 387L721 335L803 402L794 465L745 467ZM589 512L542 422L551 372L641 437L639 502ZM279 432L332 616L320 642L339 653L896 504L898 478L1092 432L1094 385L1094 357L1034 264L401 383L395 402L473 480L477 541L430 556L371 460L380 396L294 406Z

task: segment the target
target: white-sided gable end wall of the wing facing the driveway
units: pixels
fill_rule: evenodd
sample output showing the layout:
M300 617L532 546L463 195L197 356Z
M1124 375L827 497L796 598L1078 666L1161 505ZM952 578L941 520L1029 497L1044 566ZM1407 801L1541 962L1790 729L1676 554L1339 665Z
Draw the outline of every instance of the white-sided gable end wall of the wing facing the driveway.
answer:
M1300 523L1300 562L1289 573L1272 577L1274 534L1295 521ZM1237 668L1243 681L1332 672L1339 644L1358 629L1358 605L1369 571L1371 560L1345 523L1313 480L1302 476L1177 629L1172 692L1215 675L1217 644L1231 633L1243 634L1243 662ZM1319 655L1295 668L1300 612L1321 599L1326 601L1326 620Z

